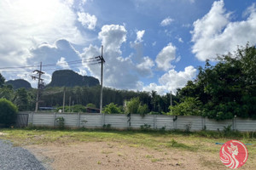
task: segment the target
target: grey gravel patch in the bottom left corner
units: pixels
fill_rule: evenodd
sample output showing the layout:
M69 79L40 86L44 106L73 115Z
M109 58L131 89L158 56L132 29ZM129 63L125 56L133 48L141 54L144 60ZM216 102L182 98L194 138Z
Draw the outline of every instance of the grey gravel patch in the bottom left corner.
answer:
M1 170L46 170L28 150L15 147L7 140L0 139Z

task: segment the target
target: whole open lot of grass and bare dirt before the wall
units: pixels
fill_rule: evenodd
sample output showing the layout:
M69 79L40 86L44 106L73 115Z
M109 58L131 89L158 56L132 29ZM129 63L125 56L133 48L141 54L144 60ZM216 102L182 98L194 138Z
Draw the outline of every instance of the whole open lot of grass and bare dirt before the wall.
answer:
M216 143L230 139L251 144L240 169L255 169L256 164L253 133L47 128L0 132L0 139L31 150L54 169L227 169L219 160L222 145Z

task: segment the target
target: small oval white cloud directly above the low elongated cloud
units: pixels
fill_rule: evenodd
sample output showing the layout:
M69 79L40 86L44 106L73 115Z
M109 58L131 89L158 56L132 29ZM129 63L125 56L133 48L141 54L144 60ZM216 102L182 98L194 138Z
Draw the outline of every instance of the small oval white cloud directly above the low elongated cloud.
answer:
M159 69L168 71L173 68L171 62L176 59L176 47L170 42L160 53L156 56L155 62Z

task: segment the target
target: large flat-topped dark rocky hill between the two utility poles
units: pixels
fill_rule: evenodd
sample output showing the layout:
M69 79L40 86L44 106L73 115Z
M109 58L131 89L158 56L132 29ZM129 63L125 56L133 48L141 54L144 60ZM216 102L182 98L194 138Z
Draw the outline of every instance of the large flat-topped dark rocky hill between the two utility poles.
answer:
M92 87L99 85L100 82L95 77L81 76L75 71L71 70L61 70L55 71L52 74L51 82L47 87L75 87L75 86L85 86Z

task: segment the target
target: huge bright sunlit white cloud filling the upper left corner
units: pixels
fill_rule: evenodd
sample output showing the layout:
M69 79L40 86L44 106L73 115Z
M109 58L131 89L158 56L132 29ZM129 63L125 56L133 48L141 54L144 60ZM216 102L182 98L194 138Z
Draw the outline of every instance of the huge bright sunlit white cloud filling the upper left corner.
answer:
M43 42L53 44L63 37L69 42L84 43L84 37L75 26L77 16L70 6L72 3L0 1L0 63L6 66L30 65L28 60L39 63L41 60L33 56L31 50ZM7 74L4 77L11 77Z

